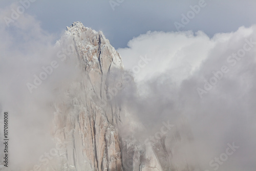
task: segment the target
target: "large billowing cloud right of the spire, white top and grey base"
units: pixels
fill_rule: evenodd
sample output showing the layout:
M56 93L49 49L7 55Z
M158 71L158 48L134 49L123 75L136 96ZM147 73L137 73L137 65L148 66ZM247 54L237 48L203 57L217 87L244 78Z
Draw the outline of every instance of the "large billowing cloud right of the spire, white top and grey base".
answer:
M255 33L255 25L212 38L201 31L148 32L118 49L139 88L124 105L146 126L144 134L184 117L195 145L188 160L197 158L202 170L254 170ZM137 72L141 56L151 60ZM228 143L239 146L231 156Z

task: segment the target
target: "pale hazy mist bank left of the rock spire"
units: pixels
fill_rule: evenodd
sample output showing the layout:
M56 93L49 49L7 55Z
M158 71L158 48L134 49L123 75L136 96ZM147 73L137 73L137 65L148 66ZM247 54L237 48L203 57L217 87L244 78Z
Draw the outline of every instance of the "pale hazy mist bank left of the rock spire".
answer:
M0 11L3 18L9 10ZM54 103L61 101L66 86L79 77L78 62L73 46L55 45L56 35L42 30L33 16L20 15L10 27L3 20L0 25L0 116L9 113L8 170L26 170L55 147Z

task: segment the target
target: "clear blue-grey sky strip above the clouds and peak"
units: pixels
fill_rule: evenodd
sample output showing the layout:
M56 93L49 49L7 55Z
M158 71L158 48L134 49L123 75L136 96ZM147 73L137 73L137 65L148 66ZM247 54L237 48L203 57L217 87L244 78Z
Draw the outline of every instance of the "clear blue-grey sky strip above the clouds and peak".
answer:
M0 7L8 7L13 2L18 1L1 1ZM109 0L36 0L25 12L34 15L44 30L57 33L56 39L66 26L80 21L86 27L102 30L118 49L147 31L177 31L174 23L181 23L181 14L186 15L191 10L190 5L198 4L199 0L124 0L113 10ZM254 0L205 0L205 4L180 30L202 30L211 37L215 33L236 31L240 26L250 27L256 23Z

